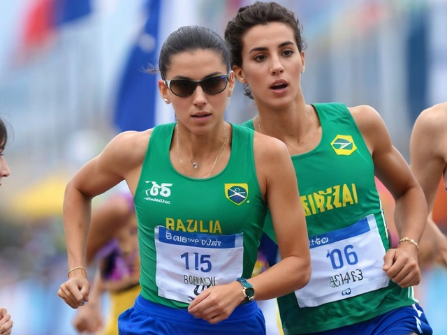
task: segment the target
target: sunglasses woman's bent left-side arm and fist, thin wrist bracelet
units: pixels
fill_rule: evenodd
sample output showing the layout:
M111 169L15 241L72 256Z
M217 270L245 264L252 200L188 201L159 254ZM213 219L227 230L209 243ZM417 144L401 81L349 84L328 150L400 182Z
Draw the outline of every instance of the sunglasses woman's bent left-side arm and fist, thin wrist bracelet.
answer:
M91 199L126 179L133 193L152 131L117 135L103 152L86 163L68 181L64 195L64 230L68 269L85 267L85 250L90 225ZM113 228L111 228L113 229ZM83 269L75 269L59 288L58 295L72 308L88 301L89 283Z

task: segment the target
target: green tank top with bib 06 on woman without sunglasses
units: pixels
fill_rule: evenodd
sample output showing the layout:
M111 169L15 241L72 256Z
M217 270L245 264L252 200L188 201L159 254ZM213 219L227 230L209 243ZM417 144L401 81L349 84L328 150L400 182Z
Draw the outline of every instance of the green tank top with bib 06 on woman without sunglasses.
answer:
M312 276L309 284L278 298L284 334L337 329L415 302L381 270L389 248L374 182L374 162L346 105L314 104L321 142L292 156L305 211ZM253 120L245 126L254 128ZM265 232L274 239L272 219Z

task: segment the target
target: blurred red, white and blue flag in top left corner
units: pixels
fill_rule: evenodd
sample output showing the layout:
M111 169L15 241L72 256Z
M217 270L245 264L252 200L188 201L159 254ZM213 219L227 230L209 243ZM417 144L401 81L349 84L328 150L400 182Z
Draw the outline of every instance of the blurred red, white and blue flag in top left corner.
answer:
M34 0L25 14L17 61L50 44L64 24L91 13L93 0Z

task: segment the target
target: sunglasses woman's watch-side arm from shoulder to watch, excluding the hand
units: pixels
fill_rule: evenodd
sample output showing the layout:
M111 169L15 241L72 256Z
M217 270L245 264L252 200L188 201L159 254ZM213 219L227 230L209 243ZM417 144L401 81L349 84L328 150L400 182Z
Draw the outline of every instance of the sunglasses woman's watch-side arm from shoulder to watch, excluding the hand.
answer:
M311 263L305 214L286 144L260 133L255 133L255 140L256 172L261 189L265 189L281 255L280 262L249 280L256 299L265 300L307 285Z

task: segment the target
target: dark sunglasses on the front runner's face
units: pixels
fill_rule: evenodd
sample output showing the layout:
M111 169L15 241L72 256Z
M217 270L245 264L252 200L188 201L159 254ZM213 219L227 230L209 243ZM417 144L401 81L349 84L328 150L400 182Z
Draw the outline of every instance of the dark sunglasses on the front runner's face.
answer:
M203 80L189 80L189 79L173 79L165 80L165 84L176 96L182 98L191 96L196 91L198 84L202 87L203 91L207 94L219 94L226 89L228 83L228 76L226 75L214 75L213 77L205 78Z

